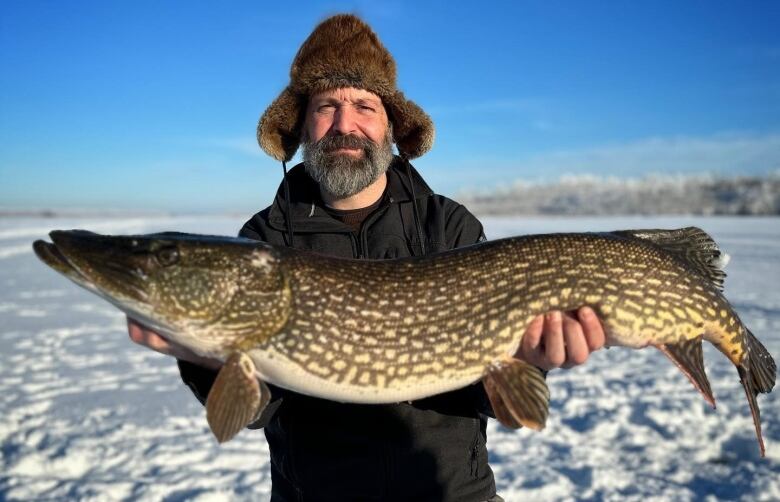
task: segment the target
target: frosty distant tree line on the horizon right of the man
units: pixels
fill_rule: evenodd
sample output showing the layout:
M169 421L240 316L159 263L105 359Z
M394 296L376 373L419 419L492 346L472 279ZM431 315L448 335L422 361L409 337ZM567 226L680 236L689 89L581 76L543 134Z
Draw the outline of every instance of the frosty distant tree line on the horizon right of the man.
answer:
M481 215L777 215L780 172L764 177L653 175L620 179L565 176L552 183L459 195Z

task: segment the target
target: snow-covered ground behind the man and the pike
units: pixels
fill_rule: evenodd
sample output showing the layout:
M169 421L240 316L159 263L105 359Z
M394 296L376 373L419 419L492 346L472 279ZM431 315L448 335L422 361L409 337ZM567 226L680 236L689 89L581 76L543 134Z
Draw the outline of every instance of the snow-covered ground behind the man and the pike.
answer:
M38 262L54 228L235 234L240 218L0 219L0 500L264 500L261 431L219 446L172 360L124 316ZM726 295L780 357L778 218L490 218L488 237L695 224L728 252ZM548 378L540 432L488 430L515 500L780 500L780 391L760 396L760 459L736 370L712 347L712 410L659 352L615 348ZM327 433L323 431L323 433Z

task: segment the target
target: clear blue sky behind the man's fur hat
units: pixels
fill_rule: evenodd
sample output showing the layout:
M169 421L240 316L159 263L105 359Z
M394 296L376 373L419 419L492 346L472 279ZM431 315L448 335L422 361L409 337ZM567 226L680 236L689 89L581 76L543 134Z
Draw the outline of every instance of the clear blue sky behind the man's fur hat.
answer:
M780 2L4 0L0 207L261 209L257 119L345 11L434 119L440 193L780 169Z

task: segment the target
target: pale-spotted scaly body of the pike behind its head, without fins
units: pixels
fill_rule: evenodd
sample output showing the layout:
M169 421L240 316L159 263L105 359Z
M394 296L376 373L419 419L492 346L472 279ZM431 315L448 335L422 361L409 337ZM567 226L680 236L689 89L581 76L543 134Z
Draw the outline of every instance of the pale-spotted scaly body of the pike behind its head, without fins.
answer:
M705 293L694 292L683 280L691 273L684 263L636 239L520 237L488 243L478 253L467 248L400 264L312 262L295 252L280 260L295 306L267 342L269 350L310 372L311 385L323 378L349 384L356 400L357 394L415 397L421 386L430 391L432 380L441 391L475 381L485 364L516 349L531 318L549 310L591 305L602 314L611 343L632 347L702 334L704 302L733 316L713 286L699 279L695 284ZM439 287L442 278L447 291ZM663 309L659 297L685 307ZM708 327L722 337L728 319L726 325L715 321ZM319 336L312 324L321 326ZM742 343L738 330L731 337Z

